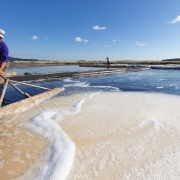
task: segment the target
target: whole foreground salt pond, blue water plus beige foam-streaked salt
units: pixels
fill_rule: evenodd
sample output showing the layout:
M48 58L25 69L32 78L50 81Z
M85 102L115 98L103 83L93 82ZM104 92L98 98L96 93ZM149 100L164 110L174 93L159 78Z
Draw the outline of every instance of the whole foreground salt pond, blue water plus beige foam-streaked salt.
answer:
M65 91L1 119L1 179L178 179L179 75L38 82Z

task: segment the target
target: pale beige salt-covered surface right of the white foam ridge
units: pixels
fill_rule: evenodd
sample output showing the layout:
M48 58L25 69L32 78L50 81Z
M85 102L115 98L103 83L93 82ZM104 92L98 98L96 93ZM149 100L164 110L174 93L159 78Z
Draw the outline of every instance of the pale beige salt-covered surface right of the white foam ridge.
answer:
M100 93L60 123L76 144L71 179L179 179L180 97Z

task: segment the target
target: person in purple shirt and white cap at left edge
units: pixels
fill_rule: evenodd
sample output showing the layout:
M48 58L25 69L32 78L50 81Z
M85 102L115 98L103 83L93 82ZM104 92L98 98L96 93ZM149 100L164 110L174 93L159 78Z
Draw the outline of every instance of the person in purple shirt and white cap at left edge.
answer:
M8 62L9 50L7 45L3 42L5 31L0 29L0 74L3 74L3 69Z

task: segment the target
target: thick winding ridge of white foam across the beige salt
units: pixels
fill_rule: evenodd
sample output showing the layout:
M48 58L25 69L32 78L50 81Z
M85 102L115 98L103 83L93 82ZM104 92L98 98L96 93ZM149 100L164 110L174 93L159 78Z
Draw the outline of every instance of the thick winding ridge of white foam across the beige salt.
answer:
M76 102L70 111L63 109L47 110L34 116L28 124L21 124L21 126L48 140L49 145L39 160L31 165L17 180L63 180L67 178L74 160L75 145L68 135L62 131L57 121L65 116L80 112L83 102L98 93L93 93ZM26 157L30 157L28 152L26 152Z

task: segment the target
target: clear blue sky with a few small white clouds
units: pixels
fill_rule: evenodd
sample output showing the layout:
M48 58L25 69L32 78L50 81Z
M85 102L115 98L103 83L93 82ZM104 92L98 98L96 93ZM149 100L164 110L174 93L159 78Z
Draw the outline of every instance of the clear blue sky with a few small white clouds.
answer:
M0 28L12 57L180 58L180 0L4 0Z

